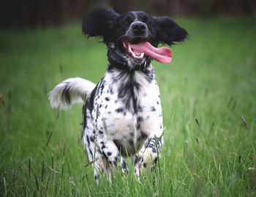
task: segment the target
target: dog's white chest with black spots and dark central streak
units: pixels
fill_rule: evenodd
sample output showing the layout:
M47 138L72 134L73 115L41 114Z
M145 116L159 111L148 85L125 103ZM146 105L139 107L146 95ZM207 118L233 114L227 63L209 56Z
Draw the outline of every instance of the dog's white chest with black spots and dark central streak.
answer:
M141 73L133 77L107 72L94 101L95 128L125 150L123 155L138 152L146 137L162 127L157 82Z

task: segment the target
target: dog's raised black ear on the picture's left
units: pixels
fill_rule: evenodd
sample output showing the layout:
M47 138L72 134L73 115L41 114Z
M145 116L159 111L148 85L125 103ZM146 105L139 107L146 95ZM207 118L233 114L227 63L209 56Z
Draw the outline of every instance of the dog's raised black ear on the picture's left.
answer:
M83 34L102 36L103 42L108 42L108 39L113 34L113 26L117 18L118 13L113 11L113 9L105 7L96 8L83 21Z

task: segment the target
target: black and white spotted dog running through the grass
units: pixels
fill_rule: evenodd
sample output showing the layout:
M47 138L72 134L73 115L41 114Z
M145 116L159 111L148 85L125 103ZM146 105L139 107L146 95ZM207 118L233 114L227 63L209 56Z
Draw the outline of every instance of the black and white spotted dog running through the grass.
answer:
M64 80L50 91L50 104L67 109L85 103L83 145L89 161L94 161L97 182L99 170L109 178L113 166L127 172L127 156L139 175L157 163L163 144L162 107L151 61L170 63L172 51L157 46L183 41L187 31L168 17L146 12L118 15L100 7L83 22L83 33L102 37L108 46L105 77L97 85L79 77Z

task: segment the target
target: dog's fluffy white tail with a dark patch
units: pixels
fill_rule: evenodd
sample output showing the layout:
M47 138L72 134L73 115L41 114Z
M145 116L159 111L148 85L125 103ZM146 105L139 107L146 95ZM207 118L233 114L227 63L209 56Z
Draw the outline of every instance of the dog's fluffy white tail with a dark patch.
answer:
M56 85L49 93L50 106L68 109L75 103L84 103L95 84L80 77L69 78Z

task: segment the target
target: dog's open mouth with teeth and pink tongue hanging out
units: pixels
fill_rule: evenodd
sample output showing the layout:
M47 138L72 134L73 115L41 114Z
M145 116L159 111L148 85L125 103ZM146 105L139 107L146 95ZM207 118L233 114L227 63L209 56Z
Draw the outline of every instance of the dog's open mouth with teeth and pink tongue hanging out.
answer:
M142 61L145 55L160 63L170 63L172 61L172 51L168 47L154 47L143 37L125 39L123 45L127 53L138 61Z

